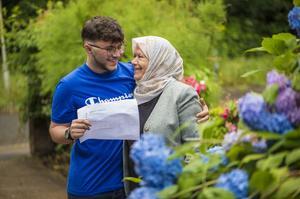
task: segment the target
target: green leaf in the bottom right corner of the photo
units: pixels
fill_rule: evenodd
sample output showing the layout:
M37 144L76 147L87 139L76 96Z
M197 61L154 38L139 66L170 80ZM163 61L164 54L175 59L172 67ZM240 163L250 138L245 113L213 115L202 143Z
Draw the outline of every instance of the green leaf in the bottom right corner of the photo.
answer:
M299 189L300 189L300 178L290 178L286 180L280 186L279 190L275 194L275 198L295 198L292 197L294 193L298 192L299 196ZM297 197L299 198L299 197Z

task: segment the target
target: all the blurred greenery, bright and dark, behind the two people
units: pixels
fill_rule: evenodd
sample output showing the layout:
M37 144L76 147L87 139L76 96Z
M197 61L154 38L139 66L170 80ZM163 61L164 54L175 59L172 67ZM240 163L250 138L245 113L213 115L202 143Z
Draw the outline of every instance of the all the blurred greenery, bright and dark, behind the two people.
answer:
M85 60L80 30L94 15L119 21L126 36L122 61L131 59L131 38L167 38L184 59L185 74L205 80L210 106L245 90L260 90L268 56L245 55L262 37L291 32L292 0L2 0L10 88L0 77L0 110L23 120L49 117L58 80ZM2 55L3 57L3 55ZM262 69L249 78L247 71Z

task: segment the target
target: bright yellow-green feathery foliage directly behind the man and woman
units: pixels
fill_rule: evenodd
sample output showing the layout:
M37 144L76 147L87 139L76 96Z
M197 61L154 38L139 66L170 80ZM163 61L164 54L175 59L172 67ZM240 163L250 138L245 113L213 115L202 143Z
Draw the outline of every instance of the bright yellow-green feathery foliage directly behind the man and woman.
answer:
M28 38L28 46L37 49L30 57L34 59L35 74L39 74L38 84L44 97L52 95L62 76L85 61L80 30L84 21L95 15L111 16L122 25L127 44L123 61L131 58L131 38L160 35L178 49L184 59L186 74L196 74L209 81L211 63L207 57L221 41L224 29L225 11L221 0L198 3L191 0L88 0L72 1L66 6L57 2L48 5L36 21L18 33L19 38ZM26 44L20 41L19 45ZM219 92L215 92L218 90L216 84L210 84L214 88L214 94L209 95L209 101L212 101L218 98ZM48 115L49 105L46 100L38 112Z

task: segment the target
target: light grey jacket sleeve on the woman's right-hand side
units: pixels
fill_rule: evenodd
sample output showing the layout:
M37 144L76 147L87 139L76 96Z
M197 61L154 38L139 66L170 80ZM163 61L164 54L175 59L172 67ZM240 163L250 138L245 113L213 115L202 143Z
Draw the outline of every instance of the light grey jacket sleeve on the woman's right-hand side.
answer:
M199 97L192 87L185 87L177 101L177 112L179 119L179 129L181 141L188 138L198 138L198 126L196 114L202 111Z

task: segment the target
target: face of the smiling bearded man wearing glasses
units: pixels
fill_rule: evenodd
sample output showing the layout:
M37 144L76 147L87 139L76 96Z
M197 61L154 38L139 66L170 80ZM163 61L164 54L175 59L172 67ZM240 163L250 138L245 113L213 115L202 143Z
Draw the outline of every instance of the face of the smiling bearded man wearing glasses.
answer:
M100 72L115 70L117 62L124 52L122 43L111 41L86 41L85 47L89 50L93 67Z

